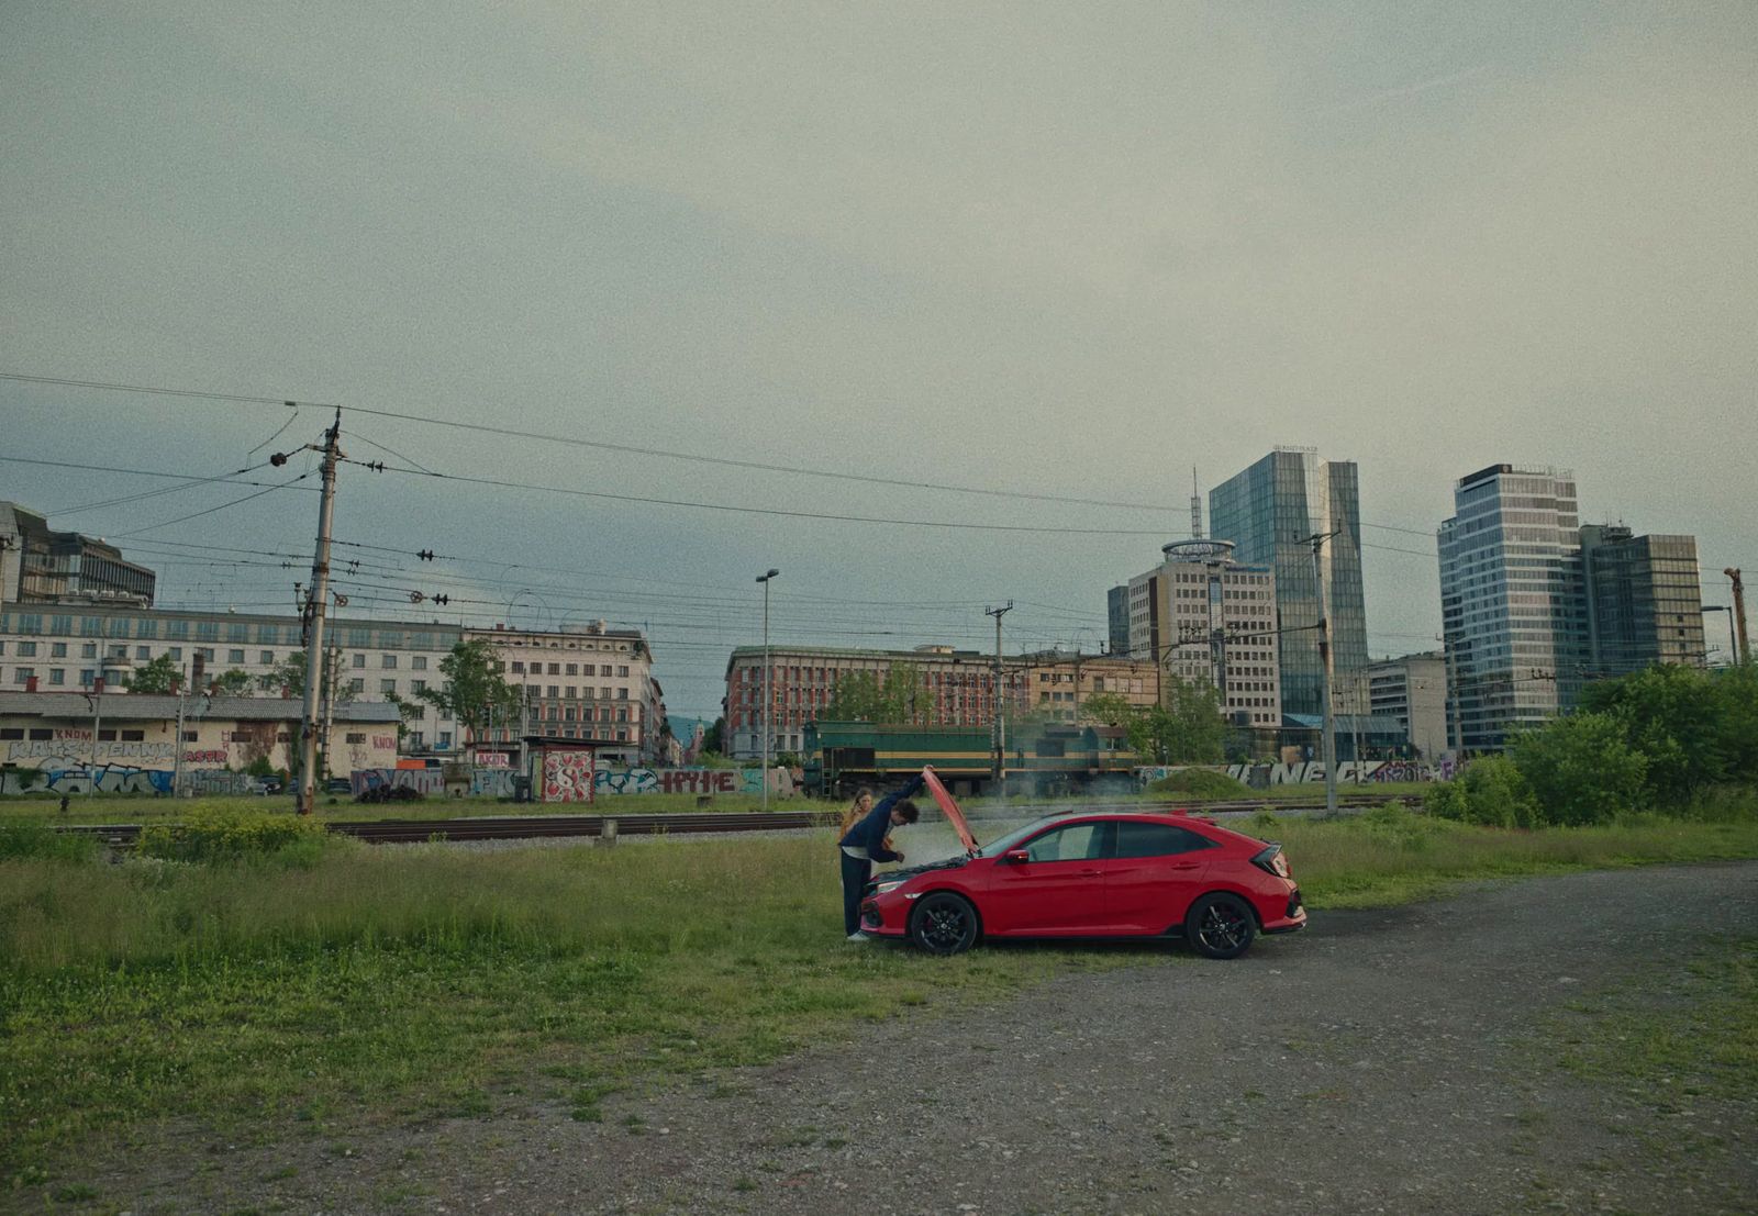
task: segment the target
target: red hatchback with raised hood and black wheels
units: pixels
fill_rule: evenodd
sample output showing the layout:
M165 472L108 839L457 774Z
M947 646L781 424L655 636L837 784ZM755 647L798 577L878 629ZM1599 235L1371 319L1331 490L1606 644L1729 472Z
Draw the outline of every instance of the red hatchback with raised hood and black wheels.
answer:
M963 858L877 875L861 930L958 954L984 937L1183 937L1238 958L1259 933L1306 928L1282 845L1187 814L1041 819L979 849L932 770Z

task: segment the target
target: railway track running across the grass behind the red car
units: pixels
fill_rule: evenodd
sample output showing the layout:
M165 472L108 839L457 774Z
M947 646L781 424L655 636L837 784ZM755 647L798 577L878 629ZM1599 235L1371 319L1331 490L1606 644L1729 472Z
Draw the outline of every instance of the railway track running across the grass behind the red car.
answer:
M1401 801L1401 794L1350 794L1338 798L1340 810L1361 810L1380 807L1389 801ZM628 815L482 815L468 819L346 819L325 824L331 831L353 836L374 845L406 845L425 840L541 840L547 836L603 836L605 822L617 824L621 836L659 836L659 835L714 835L733 831L789 831L805 828L828 828L842 817L840 805L821 805L819 810L772 810L772 812L679 812L679 814L643 814ZM1322 810L1304 801L1264 801L1239 800L1220 803L1185 803L1185 801L1099 801L1072 807L1067 801L1018 801L1006 807L974 808L969 817L974 822L986 819L1018 819L1021 815L1053 815L1072 810L1178 810L1192 814L1248 814L1255 810ZM113 849L132 849L141 838L141 824L65 824L58 831L77 831L98 836Z

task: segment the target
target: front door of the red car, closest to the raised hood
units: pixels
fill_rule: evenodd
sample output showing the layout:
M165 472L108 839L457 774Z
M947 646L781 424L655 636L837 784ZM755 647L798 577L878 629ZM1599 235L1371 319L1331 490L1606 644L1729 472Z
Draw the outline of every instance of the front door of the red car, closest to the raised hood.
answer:
M983 900L983 928L1042 937L1104 931L1108 838L1104 821L1057 824L1018 845L1025 861L997 858Z

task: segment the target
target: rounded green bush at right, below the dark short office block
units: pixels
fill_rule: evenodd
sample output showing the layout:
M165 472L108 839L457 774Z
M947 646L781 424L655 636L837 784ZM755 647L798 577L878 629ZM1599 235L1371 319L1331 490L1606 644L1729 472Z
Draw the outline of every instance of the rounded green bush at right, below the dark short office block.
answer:
M1647 803L1649 757L1630 745L1616 713L1572 713L1514 743L1514 763L1545 819L1602 824Z

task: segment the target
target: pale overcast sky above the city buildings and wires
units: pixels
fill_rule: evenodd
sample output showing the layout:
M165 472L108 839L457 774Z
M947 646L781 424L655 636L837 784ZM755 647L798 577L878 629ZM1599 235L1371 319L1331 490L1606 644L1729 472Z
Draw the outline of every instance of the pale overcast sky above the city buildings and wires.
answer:
M1709 603L1758 573L1746 0L14 2L0 114L0 371L1115 503L345 415L362 460L624 496L346 466L336 534L406 555L341 557L408 568L350 608L645 622L679 713L770 566L775 641L986 648L1013 599L1009 650L1097 650L1192 466L1278 443L1361 462L1377 655L1435 645L1433 529L1501 460L1696 534ZM218 474L327 422L258 448L290 415L0 381L0 455ZM308 571L165 541L309 566L315 483L171 524L253 490L70 511L174 483L0 462L241 610Z

